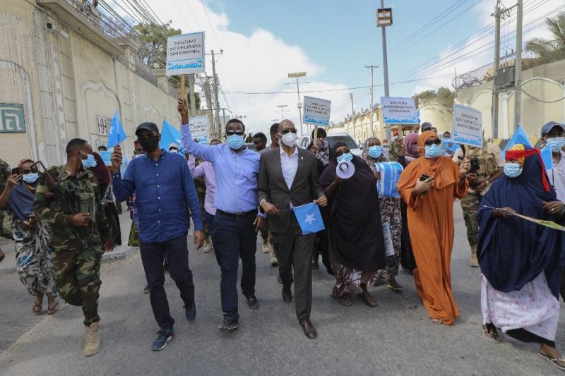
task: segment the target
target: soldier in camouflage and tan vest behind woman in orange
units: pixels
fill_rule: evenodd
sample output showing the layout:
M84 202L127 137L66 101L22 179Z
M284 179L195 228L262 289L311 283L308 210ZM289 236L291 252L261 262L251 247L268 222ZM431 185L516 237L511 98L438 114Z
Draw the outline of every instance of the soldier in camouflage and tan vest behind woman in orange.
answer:
M461 199L461 209L463 209L463 219L467 227L467 240L471 247L469 266L478 267L479 221L477 212L489 186L504 174L504 159L501 157L500 147L486 140L483 141L482 147L462 145L453 155L453 161L460 164L465 156L471 161L471 169L467 174L469 190L467 196Z

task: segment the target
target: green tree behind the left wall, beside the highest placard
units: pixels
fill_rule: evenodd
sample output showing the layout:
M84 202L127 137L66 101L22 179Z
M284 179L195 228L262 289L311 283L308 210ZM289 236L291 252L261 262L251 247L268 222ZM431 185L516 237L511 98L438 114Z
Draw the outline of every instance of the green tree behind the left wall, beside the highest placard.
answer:
M150 68L165 68L167 61L167 38L182 33L180 29L171 28L172 21L164 25L155 23L138 23L133 28L141 37L141 48L138 51L143 63Z

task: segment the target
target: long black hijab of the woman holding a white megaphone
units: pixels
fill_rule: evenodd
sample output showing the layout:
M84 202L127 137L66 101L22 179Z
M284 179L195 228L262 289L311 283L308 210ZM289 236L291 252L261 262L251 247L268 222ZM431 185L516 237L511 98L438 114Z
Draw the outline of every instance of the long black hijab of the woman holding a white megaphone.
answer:
M320 177L322 188L335 180L335 150L342 146L347 145L336 142L331 148L330 164ZM331 250L341 265L370 272L386 265L379 198L367 163L355 156L351 163L355 173L341 181L328 205L328 233Z

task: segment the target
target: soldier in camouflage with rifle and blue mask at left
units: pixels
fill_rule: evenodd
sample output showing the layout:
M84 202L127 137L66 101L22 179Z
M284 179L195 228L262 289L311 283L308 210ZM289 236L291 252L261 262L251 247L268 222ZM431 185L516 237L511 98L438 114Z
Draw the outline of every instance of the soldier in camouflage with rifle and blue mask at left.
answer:
M100 202L98 181L83 166L92 164L91 152L92 147L88 142L75 138L66 147L66 164L50 167L47 171L61 188L76 188L80 197L79 214L64 211L44 178L37 184L33 204L33 211L51 226L49 245L61 298L66 303L83 308L85 356L92 356L100 349L100 259L102 253L114 248L112 233ZM85 230L79 233L81 228ZM105 239L104 245L101 238Z

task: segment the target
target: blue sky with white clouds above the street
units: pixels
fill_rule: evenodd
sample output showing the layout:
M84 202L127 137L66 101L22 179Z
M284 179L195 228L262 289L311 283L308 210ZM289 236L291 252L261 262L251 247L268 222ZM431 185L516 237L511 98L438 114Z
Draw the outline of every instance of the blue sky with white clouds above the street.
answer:
M183 32L204 30L206 50L223 51L216 71L220 107L245 116L249 131L267 132L281 116L299 126L296 80L306 71L303 95L331 100L331 121L339 123L367 109L370 70L374 103L384 95L381 28L376 1L143 0L163 22ZM502 4L510 7L512 0ZM386 28L389 96L451 87L461 74L492 63L496 0L392 0L393 25ZM543 20L565 11L563 0L524 0L524 42L547 37ZM515 49L516 10L503 20L501 54ZM206 71L211 75L208 56ZM361 87L361 88L357 88ZM268 94L264 93L268 92ZM254 93L254 94L251 94ZM279 105L287 105L281 114ZM304 129L306 129L304 127ZM306 131L304 131L306 132Z

